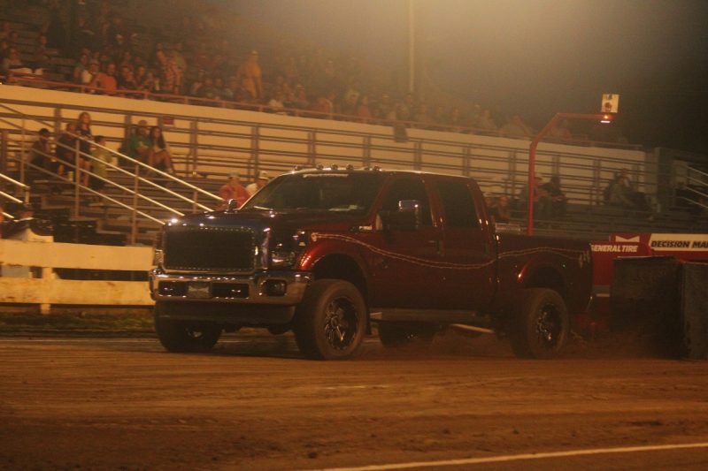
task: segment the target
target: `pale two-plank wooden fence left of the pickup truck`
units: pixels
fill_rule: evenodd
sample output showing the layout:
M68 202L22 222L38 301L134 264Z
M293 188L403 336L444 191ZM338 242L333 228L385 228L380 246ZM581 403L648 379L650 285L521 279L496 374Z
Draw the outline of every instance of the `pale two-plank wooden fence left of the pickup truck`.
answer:
M151 263L150 247L0 239L1 266L39 269L15 270L20 277L0 277L0 304L39 304L42 314L48 314L52 304L150 306L146 281L60 279L53 269L147 271ZM41 277L33 277L33 272Z

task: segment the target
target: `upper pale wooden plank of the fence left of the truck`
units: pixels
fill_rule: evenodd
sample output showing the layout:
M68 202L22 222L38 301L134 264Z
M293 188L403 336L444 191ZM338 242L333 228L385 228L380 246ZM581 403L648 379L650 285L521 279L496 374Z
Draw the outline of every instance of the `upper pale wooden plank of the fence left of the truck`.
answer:
M0 264L65 269L148 271L152 268L152 248L1 239Z

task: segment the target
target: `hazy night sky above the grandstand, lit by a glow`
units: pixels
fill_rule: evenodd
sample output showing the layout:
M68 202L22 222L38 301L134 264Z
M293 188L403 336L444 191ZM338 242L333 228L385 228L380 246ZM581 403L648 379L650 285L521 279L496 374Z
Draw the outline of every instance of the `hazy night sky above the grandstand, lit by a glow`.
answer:
M413 0L436 87L540 127L619 93L631 141L708 153L708 1ZM244 17L403 69L406 0L224 0Z

